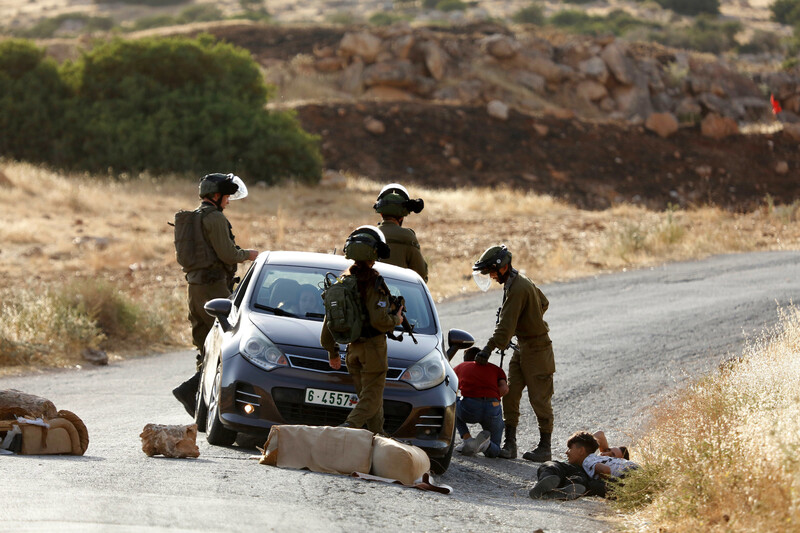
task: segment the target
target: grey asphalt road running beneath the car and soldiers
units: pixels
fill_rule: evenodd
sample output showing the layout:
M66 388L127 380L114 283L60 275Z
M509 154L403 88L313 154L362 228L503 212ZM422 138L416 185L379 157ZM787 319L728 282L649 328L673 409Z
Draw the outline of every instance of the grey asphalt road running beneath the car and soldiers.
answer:
M715 257L544 285L557 372L554 450L577 429L635 440L647 408L676 386L741 352L800 294L800 252ZM535 274L533 275L535 279ZM443 324L484 342L501 293L439 306ZM195 460L148 458L149 422L189 423L170 390L187 377L188 352L103 368L0 379L51 399L89 428L84 457L0 456L0 531L534 531L614 528L597 498L533 501L535 466L456 456L439 481L449 496L344 476L259 465L253 448L209 446ZM506 363L507 367L507 363ZM523 399L520 445L536 444Z

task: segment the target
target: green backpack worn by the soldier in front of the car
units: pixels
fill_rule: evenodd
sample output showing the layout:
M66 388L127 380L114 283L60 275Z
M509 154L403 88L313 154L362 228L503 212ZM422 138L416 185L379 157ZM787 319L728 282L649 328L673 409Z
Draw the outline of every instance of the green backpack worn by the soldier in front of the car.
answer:
M362 337L366 322L364 305L358 293L355 276L341 276L336 279L330 272L325 276L325 317L328 330L339 344L349 344Z

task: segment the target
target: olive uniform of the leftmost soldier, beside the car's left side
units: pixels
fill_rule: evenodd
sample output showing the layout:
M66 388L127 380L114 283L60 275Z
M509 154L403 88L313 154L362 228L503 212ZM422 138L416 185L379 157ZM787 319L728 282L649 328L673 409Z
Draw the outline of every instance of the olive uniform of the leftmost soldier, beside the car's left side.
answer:
M203 361L203 344L214 326L214 317L203 306L214 298L227 298L233 291L236 265L249 258L249 252L236 245L230 222L217 206L209 202L200 204L203 213L203 235L214 250L217 263L210 268L193 270L186 274L189 282L189 322L192 324L192 342L200 351L198 370Z

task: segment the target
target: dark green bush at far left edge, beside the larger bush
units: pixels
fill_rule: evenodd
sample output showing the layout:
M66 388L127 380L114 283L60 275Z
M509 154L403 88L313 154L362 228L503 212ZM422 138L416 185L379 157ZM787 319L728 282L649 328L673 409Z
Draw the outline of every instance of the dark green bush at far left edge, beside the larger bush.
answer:
M56 161L68 95L44 50L19 39L0 42L0 155Z

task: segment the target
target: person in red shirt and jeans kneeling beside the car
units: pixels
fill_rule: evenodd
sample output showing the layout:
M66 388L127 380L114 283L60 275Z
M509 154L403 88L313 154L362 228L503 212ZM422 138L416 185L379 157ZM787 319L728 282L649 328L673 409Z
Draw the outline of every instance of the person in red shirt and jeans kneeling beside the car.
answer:
M508 380L499 366L476 363L479 351L470 348L464 353L464 362L453 368L461 391L456 403L456 429L464 442L459 451L463 455L483 452L486 457L497 457L504 428L500 398L508 393ZM473 438L467 424L480 424L483 431Z

